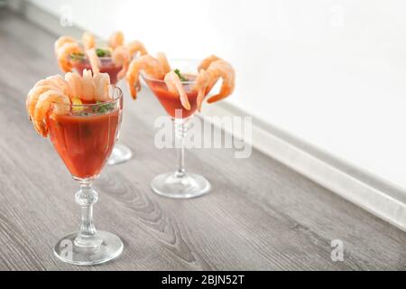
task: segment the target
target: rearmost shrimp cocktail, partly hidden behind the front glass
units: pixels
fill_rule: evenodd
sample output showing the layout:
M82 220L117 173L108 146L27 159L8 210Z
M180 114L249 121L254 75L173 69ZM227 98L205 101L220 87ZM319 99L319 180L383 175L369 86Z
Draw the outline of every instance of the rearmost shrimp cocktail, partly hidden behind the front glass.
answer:
M125 77L128 65L134 57L147 53L142 42L125 43L121 32L113 33L106 44L97 45L92 34L83 33L81 42L69 36L61 36L54 46L60 70L63 72L76 70L80 75L85 70L92 70L93 73L105 72L112 84ZM132 155L126 145L115 144L108 163L124 163Z

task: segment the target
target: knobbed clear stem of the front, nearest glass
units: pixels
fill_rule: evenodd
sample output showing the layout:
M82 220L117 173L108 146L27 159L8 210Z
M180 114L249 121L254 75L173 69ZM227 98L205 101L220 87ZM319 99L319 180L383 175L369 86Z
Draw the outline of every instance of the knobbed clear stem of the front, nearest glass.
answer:
M79 182L80 190L75 194L75 200L80 206L82 217L75 245L79 247L95 247L102 242L97 236L97 230L93 224L93 204L98 199L97 191L93 190L91 181L80 180Z

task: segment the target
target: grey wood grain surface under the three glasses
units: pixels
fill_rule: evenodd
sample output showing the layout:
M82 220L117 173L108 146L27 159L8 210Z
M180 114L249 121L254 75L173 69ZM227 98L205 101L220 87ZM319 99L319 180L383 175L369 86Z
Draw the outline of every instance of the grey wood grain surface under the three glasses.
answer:
M60 262L51 247L78 228L78 184L24 108L33 83L59 73L56 37L0 11L1 270L406 269L404 232L256 151L191 150L187 168L213 190L194 200L153 194L149 182L176 158L153 145L158 101L143 89L134 102L126 88L121 141L134 159L106 167L95 205L97 228L119 235L125 251L101 266ZM343 262L330 258L333 239L344 242Z

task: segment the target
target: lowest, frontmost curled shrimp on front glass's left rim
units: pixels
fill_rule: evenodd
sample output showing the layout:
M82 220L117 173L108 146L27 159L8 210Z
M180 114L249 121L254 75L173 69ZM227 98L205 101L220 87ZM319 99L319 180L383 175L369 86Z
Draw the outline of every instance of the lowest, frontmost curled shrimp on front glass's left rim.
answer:
M44 137L46 137L49 132L46 116L51 108L51 104L56 105L53 107L53 112L57 115L68 114L70 111L70 99L67 95L58 90L43 92L35 106L33 124L36 130Z

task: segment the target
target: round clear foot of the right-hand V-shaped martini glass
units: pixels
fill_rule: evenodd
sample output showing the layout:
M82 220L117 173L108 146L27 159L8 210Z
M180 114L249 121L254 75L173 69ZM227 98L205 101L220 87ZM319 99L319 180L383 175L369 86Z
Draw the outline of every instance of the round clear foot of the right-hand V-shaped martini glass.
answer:
M161 173L151 182L152 191L174 199L189 199L208 193L210 182L201 175L185 173L177 176L176 172Z

